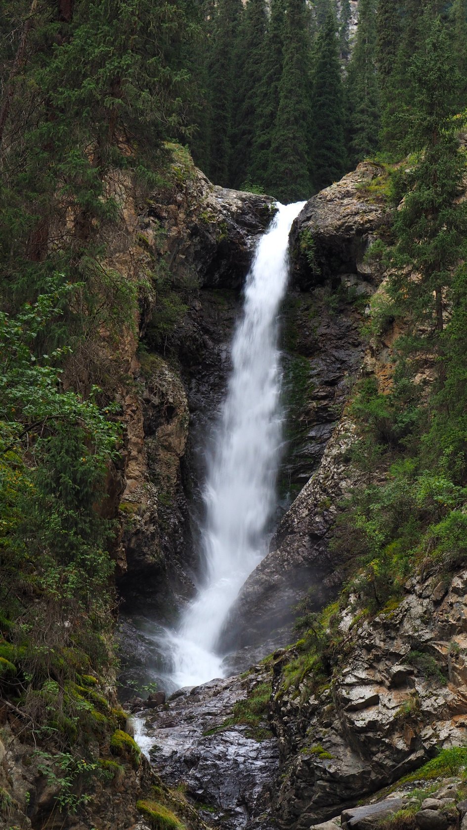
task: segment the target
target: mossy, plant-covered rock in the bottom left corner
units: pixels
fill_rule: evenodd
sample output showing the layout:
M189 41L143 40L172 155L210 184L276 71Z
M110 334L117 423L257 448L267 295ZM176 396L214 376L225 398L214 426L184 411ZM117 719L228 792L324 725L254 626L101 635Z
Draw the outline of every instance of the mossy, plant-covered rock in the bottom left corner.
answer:
M209 830L180 793L165 787L145 758L133 764L115 757L101 765L83 760L77 771L79 755L74 759L71 754L42 752L40 740L25 735L22 726L2 720L2 830L150 830L152 825L137 806L139 799L157 800L175 811L187 830Z

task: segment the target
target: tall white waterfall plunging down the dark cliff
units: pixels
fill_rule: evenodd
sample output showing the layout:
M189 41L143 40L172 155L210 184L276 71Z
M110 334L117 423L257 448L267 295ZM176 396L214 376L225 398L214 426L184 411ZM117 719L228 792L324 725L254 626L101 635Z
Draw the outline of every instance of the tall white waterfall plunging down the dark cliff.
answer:
M288 281L288 233L303 205L278 205L247 277L204 489L204 579L178 631L167 632L163 644L178 688L223 675L216 643L239 589L266 552L283 421L278 310Z

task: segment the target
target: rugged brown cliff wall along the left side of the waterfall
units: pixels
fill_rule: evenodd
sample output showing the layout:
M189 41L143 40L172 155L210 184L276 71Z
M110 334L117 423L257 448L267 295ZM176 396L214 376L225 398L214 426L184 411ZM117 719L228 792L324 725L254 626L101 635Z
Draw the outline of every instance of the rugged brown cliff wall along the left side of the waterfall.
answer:
M162 269L188 299L188 305L164 311L176 318L165 334L164 355L151 349L139 354L138 338L130 332L123 337L131 380L120 385L126 426L120 503L126 561L120 563L119 587L129 607L142 592L161 617L170 616L175 598L189 593L189 522L181 470L189 410L202 407L199 398L213 403L215 388L224 382L225 339L236 306L236 296L213 300L210 289L243 284L255 237L273 212L272 198L215 187L183 154L175 156L171 182L155 196L139 201L125 192L130 231L125 262L131 262L135 278L145 267ZM157 290L142 291L140 338L150 331L159 301Z

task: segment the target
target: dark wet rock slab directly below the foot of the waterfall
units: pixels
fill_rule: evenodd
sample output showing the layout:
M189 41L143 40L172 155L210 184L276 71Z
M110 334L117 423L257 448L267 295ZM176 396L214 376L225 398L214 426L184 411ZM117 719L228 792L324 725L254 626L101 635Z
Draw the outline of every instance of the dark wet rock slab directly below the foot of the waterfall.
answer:
M246 679L214 680L176 692L164 707L142 713L154 764L166 784L183 782L201 816L223 830L273 830L264 819L277 789L278 744L255 740L246 725L212 733L231 717L236 701L264 680L264 669ZM267 724L265 724L267 725ZM143 744L144 745L144 744Z

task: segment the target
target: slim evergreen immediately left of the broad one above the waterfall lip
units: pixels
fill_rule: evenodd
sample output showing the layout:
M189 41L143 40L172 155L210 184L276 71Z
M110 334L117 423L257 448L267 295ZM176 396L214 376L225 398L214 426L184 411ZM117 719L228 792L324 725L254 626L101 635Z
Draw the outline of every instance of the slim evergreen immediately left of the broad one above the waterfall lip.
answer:
M283 72L283 41L286 0L272 0L268 32L263 41L263 55L258 89L256 125L253 148L248 164L248 179L254 184L273 189L268 179L273 128L278 115L279 85Z

